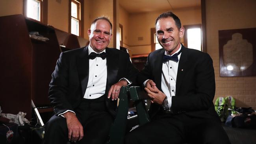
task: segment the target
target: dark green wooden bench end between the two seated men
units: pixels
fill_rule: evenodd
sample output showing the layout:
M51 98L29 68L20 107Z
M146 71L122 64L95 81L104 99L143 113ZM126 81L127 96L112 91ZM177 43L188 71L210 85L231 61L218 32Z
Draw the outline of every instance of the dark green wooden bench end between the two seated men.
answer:
M123 86L120 89L117 115L110 130L108 144L124 143L124 136L127 132L128 121L133 121L131 123L137 123L136 121L138 121L139 126L142 126L150 121L147 109L145 108L145 100L147 99L149 99L149 97L144 90L141 89L141 87ZM130 100L134 101L135 103L137 115L132 116L128 120L127 116ZM130 129L128 128L128 130Z

